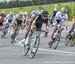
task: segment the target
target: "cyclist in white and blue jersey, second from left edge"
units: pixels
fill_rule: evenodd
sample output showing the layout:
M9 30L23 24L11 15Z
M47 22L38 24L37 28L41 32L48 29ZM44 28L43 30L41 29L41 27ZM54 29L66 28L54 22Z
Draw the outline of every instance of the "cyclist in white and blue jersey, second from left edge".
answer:
M3 22L3 26L1 28L3 32L1 38L4 38L8 32L11 32L13 19L14 19L14 14L12 12L8 14L4 19L5 22Z

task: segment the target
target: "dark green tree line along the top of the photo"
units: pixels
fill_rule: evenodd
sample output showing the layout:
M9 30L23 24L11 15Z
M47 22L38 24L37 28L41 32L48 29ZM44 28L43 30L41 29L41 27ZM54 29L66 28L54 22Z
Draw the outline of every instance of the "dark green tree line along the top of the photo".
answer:
M32 1L11 0L9 2L7 1L0 2L0 9L33 6L33 5L44 5L52 3L63 3L63 2L72 2L72 1L75 0L32 0Z

